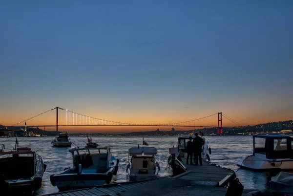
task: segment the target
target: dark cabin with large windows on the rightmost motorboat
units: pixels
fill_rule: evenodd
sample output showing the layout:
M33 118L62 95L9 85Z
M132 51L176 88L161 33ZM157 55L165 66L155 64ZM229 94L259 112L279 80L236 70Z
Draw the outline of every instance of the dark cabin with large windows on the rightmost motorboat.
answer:
M293 136L253 135L253 156L265 154L268 159L293 159Z

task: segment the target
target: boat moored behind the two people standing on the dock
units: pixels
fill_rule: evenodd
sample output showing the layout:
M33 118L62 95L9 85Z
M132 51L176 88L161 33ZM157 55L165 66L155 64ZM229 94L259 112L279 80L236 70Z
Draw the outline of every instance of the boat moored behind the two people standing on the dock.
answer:
M204 141L204 145L202 146L201 157L202 160L210 161L209 154L211 154L211 149L209 147L209 141L203 136L203 133L200 132L201 137ZM185 165L182 163L183 159L187 158L187 142L189 137L192 140L195 138L195 135L182 135L178 137L178 146L173 148L169 148L169 157L168 157L168 165L172 168L173 173L182 173L186 171ZM185 161L186 162L186 161Z

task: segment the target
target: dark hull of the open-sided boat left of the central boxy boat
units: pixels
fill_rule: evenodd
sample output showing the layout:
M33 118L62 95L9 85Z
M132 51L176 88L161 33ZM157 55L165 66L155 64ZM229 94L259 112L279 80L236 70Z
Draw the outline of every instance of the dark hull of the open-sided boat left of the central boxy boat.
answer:
M106 174L59 174L51 175L50 181L59 190L70 190L110 183L112 176L112 172Z

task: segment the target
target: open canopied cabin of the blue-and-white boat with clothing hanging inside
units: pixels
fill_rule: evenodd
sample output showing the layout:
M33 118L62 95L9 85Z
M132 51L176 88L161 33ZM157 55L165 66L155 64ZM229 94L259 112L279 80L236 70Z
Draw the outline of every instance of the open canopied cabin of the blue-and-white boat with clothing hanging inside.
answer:
M72 167L79 170L79 165L83 172L105 173L108 168L114 165L110 148L74 148L70 149L72 154Z

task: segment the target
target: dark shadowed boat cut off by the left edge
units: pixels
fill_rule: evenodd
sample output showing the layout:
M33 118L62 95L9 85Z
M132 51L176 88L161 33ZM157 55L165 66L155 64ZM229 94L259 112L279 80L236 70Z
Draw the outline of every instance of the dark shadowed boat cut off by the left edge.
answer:
M46 170L42 157L31 148L19 147L13 151L6 151L5 146L1 146L0 183L5 182L3 185L6 189L1 189L1 192L9 193L9 195L15 192L31 194L39 190Z

